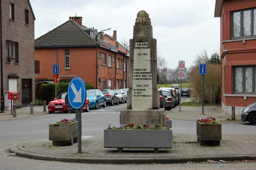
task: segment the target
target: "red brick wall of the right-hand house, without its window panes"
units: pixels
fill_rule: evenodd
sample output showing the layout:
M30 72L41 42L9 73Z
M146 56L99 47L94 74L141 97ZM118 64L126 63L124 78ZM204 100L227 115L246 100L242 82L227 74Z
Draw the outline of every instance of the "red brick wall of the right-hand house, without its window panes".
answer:
M219 6L221 3L222 8ZM256 87L253 87L252 89L254 90L250 93L247 93L247 91L238 93L234 89L236 82L234 80L234 68L237 66L241 68L244 66L254 68L256 66L256 36L232 37L233 12L254 9L255 7L255 0L216 0L215 17L220 17L220 55L222 59L221 102L222 109L228 114L231 114L231 106L236 106L236 114L239 114L245 106L256 101ZM241 17L241 22L242 20L243 18ZM253 73L252 75L256 74ZM252 86L255 86L256 77L251 76L250 79L252 79ZM243 81L245 81L244 78Z

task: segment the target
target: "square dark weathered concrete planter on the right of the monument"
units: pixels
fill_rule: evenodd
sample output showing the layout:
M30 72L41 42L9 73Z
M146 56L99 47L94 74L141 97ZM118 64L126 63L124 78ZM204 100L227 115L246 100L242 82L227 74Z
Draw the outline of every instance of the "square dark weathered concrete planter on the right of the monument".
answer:
M196 121L197 142L199 145L220 145L221 124L202 124Z

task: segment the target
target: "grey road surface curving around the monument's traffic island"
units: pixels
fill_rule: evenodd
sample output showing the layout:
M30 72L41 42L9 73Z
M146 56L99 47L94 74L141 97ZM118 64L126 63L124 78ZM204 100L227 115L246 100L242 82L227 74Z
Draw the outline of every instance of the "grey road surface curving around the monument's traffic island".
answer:
M103 134L103 129L109 124L119 126L120 110L126 108L126 103L118 106L100 107L82 112L82 135ZM177 106L178 107L178 106ZM44 114L24 119L1 121L0 135L0 169L255 169L255 162L246 163L181 163L181 164L84 164L57 161L44 161L7 156L8 149L17 142L48 139L50 123L60 119L72 119L74 113ZM255 126L239 123L223 123L222 133L256 133ZM173 120L173 133L196 133L194 121Z

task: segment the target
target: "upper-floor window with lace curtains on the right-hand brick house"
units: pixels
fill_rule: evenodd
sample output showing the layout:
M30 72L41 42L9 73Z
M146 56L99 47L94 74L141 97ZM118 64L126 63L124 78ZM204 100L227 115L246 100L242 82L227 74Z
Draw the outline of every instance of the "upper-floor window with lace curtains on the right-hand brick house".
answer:
M232 38L256 37L256 8L232 12Z

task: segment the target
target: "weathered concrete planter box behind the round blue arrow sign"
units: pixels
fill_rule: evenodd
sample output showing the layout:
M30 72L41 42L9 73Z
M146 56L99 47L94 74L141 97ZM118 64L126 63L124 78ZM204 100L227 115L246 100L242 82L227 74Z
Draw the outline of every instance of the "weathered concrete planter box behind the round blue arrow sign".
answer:
M78 122L70 124L49 124L49 140L52 145L73 145L78 142Z

